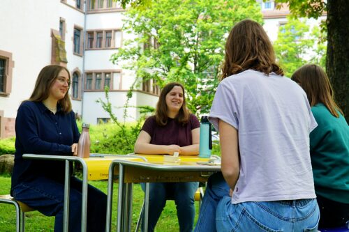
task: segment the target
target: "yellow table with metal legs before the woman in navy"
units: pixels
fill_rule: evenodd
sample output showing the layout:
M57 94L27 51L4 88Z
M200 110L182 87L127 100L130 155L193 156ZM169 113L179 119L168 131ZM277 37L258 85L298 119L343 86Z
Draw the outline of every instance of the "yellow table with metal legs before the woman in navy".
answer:
M68 208L69 208L69 187L70 187L70 165L69 162L77 162L82 166L82 215L81 215L81 231L86 231L87 222L87 180L106 180L109 176L108 170L110 164L114 160L133 160L142 162L144 157L137 157L135 155L96 155L87 159L82 159L76 156L63 155L36 155L24 154L24 159L32 160L60 160L66 162L66 171L64 179L64 232L68 232ZM114 176L114 175L112 175Z

